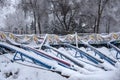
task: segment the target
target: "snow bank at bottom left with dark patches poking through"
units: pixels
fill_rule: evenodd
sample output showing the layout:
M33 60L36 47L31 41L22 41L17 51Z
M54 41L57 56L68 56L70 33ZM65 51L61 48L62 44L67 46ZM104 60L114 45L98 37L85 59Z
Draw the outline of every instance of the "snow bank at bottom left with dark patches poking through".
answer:
M9 60L0 55L0 80L67 80L67 79L51 71L27 67L17 63L11 63Z

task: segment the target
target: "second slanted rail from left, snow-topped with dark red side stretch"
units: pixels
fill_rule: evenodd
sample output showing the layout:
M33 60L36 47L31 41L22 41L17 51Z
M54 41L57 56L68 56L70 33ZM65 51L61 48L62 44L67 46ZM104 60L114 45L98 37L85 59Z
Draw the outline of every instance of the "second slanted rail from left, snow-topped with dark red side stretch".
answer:
M45 39L46 40L46 39ZM45 42L45 40L44 40L44 42ZM18 43L16 43L16 42L12 42L10 39L7 39L7 42L9 43L9 44L11 44L11 45L14 45L14 46L17 46L17 47L21 47L21 48L23 48L23 49L25 49L25 50L28 50L28 51L32 51L32 52L34 52L35 54L37 54L37 55L40 55L40 56L42 56L42 57L44 57L44 58L47 58L47 59L49 59L49 60L55 60L55 61L57 61L58 62L58 64L60 65L60 66L63 66L63 67L66 67L66 68L69 68L69 69L72 69L72 70L77 70L75 67L74 67L74 65L72 65L72 64L70 64L70 63L68 63L68 62L66 62L66 61L64 61L64 60L60 60L59 58L57 58L57 57L53 57L53 56L51 56L51 55L48 55L47 53L45 53L44 51L40 51L40 50L37 50L37 49L33 49L33 48L31 48L31 47L28 47L28 46L23 46L23 45L21 45L21 44L18 44ZM44 44L44 43L43 43ZM42 47L42 45L40 46L40 48Z

